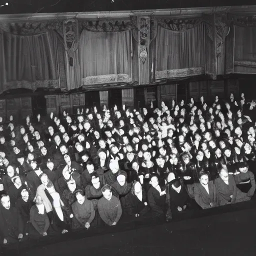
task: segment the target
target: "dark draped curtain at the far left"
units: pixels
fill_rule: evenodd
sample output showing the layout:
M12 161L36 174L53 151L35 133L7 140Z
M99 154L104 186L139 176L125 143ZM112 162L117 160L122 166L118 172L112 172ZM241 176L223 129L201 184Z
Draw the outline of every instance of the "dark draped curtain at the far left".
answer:
M3 32L2 37L5 68L1 91L59 87L57 36L54 32L36 35Z

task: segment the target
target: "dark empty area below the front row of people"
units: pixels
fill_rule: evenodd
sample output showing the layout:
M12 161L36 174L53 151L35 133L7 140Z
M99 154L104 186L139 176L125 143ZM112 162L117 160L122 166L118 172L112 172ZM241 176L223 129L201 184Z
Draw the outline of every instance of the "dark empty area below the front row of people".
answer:
M141 251L147 251L147 254L143 253L143 255L162 255L167 251L171 251L172 255L173 253L183 255L181 253L184 253L184 250L189 252L189 248L193 249L190 255L217 255L214 254L216 250L215 252L211 250L213 246L215 249L222 248L218 255L242 255L240 253L244 246L246 255L255 255L255 253L251 254L253 252L251 249L256 243L250 243L248 240L252 239L251 234L256 228L255 202L254 196L249 202L185 211L170 222L153 219L124 220L114 227L97 227L67 234L49 235L41 237L36 242L27 240L3 248L2 255L39 256L46 253L47 256L53 256L75 253L77 256L85 251L93 255L100 255L104 251L107 255L129 255L129 253L139 255ZM223 237L227 243L225 245ZM195 241L196 239L198 240ZM221 245L223 247L219 247L218 242L223 244ZM162 245L157 245L159 243ZM240 251L237 250L237 246ZM227 247L229 252L225 249ZM229 254L231 251L232 254Z

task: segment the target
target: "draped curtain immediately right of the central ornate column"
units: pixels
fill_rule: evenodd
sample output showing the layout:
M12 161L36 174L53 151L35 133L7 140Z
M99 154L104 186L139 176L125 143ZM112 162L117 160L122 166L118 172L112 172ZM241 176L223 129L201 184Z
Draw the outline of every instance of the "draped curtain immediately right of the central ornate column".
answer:
M158 25L155 38L156 79L171 75L173 69L196 69L195 73L184 70L184 76L204 73L204 31L203 22L185 31L169 30ZM175 76L174 70L172 76Z

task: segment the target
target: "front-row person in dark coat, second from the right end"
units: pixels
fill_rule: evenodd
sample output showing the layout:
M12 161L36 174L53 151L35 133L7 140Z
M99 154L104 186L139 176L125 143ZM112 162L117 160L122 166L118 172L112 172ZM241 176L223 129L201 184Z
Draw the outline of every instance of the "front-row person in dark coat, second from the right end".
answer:
M248 201L250 197L236 187L235 179L222 166L218 168L219 177L215 179L215 186L219 198L219 205Z

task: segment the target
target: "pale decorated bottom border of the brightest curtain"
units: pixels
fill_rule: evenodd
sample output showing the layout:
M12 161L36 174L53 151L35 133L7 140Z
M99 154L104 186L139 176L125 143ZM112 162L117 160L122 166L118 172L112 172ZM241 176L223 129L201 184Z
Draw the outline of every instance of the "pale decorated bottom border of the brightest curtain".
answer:
M82 85L118 82L132 82L132 79L128 74L104 74L82 78Z

